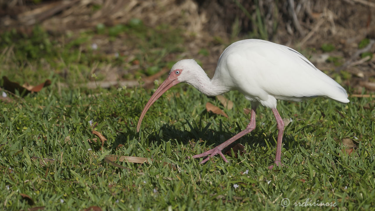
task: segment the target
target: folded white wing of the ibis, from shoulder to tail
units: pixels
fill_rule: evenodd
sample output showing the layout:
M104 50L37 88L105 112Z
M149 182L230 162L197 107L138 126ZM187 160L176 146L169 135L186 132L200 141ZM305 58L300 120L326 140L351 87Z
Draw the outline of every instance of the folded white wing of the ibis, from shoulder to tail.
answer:
M229 73L236 78L233 83L238 83L239 90L251 96L262 100L266 94L292 100L327 96L348 102L344 88L302 54L284 45L267 41L244 42L234 46L225 56Z

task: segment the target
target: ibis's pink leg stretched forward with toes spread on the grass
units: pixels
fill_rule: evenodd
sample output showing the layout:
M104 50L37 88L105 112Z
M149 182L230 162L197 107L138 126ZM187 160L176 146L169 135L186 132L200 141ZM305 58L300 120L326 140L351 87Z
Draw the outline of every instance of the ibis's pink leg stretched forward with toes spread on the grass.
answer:
M205 163L208 160L210 160L211 157L219 154L223 160L228 163L228 160L224 157L223 153L221 152L224 148L226 148L228 145L239 139L240 137L244 136L245 134L250 133L252 130L255 129L255 110L256 107L252 107L251 109L251 116L250 116L250 123L246 127L245 130L241 131L240 133L237 133L235 136L231 137L230 139L226 140L224 143L220 144L219 146L216 146L213 149L210 149L206 152L203 152L202 154L199 155L194 155L193 158L200 158L200 157L205 157L209 155L206 159L202 160L200 163Z

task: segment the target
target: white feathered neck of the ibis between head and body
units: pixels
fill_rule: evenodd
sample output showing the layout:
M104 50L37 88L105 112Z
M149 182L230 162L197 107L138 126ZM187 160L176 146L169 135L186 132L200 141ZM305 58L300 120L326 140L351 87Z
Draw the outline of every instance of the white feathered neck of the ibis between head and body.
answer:
M188 81L187 83L207 96L220 95L230 90L229 87L224 86L223 83L221 83L221 81L217 80L215 77L212 79L208 78L207 74L205 74L203 70L202 74L195 77L195 80Z

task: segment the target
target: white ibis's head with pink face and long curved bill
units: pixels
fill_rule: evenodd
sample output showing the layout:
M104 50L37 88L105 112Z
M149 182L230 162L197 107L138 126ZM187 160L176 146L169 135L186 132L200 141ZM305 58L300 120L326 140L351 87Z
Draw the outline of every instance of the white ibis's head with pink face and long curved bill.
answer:
M197 77L197 70L201 69L202 72L203 69L201 66L196 63L193 59L183 59L175 63L171 71L169 72L168 77L165 79L165 81L156 89L154 94L151 96L151 98L148 100L147 104L145 105L141 116L139 116L139 121L137 124L137 132L139 132L139 129L141 127L141 122L146 114L147 110L151 107L151 105L160 97L166 90L171 88L172 86L180 83L185 82L192 84L195 81L195 78Z

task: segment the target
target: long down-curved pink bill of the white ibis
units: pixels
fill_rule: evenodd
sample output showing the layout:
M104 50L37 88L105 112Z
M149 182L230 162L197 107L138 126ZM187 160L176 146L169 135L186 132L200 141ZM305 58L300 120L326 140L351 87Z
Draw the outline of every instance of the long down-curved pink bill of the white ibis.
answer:
M166 90L171 88L172 86L180 83L180 81L177 80L177 78L172 78L171 75L168 76L168 78L165 79L165 81L156 89L155 93L151 96L151 98L148 100L147 104L145 105L141 116L138 120L137 125L137 133L139 132L139 129L141 128L141 122L144 118L144 115L146 114L147 110L151 107L151 105L160 97Z

